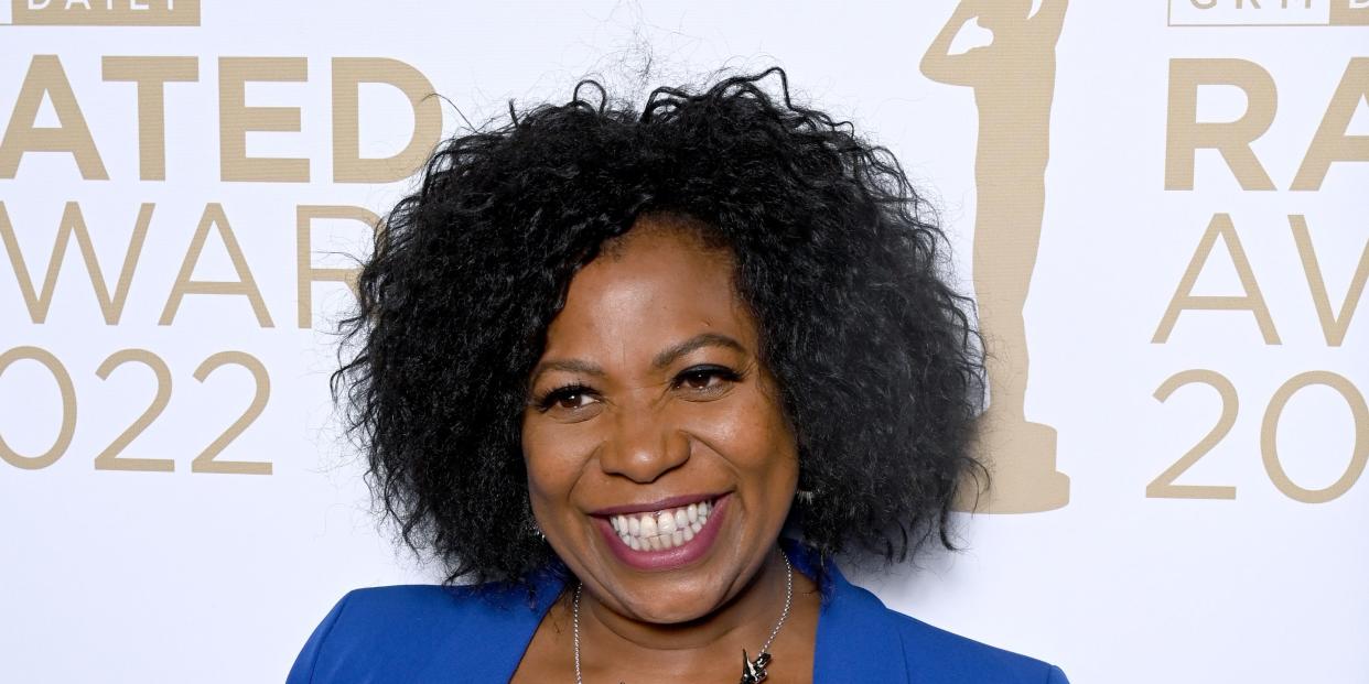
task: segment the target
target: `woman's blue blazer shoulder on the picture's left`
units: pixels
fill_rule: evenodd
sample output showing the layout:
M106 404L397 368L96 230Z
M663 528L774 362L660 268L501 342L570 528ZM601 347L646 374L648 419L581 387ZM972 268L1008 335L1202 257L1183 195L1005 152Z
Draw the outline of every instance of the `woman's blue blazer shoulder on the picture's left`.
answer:
M463 672L472 659L498 668L498 651L516 647L519 635L531 635L539 620L533 595L519 587L356 590L319 622L286 681L422 683ZM516 665L519 653L505 654L505 659Z

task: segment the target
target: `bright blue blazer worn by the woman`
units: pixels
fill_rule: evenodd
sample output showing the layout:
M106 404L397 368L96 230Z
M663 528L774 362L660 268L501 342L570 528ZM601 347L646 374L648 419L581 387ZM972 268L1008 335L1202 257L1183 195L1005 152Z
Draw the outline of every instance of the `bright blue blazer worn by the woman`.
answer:
M786 544L812 576L815 555ZM895 613L827 565L815 683L1068 684L1051 665ZM509 586L356 590L323 618L286 684L508 681L561 592L537 580L535 603Z

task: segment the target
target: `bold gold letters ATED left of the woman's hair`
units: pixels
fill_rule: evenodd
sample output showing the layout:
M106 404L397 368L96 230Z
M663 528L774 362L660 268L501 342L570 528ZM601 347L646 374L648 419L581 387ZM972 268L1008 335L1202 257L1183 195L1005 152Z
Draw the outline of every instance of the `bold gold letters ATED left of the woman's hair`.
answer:
M105 56L107 82L136 82L138 103L138 178L166 181L166 86L200 79L199 57ZM442 133L442 111L433 85L416 68L381 57L335 57L331 66L333 179L344 183L389 183L408 176ZM305 57L219 57L219 175L222 181L304 183L311 160L305 157L248 156L249 133L300 133L298 107L257 107L246 101L249 83L297 82L308 85ZM408 142L386 157L360 153L360 86L386 85L409 101L413 129ZM120 86L126 88L126 86ZM189 86L182 86L189 88ZM94 96L90 96L94 97ZM57 126L38 126L38 109L47 100ZM11 179L23 157L37 152L71 155L81 178L108 181L94 137L79 100L57 55L34 55L19 86L4 137L0 138L0 179Z

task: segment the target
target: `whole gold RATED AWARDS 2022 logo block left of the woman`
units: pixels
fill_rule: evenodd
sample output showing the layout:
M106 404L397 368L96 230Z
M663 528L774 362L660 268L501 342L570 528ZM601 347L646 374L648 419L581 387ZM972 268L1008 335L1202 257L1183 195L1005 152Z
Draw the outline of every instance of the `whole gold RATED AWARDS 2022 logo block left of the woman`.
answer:
M15 0L0 4L0 23L199 26L200 3ZM309 63L311 59L315 60L314 64ZM78 78L68 78L68 68L78 74ZM97 75L92 77L92 71ZM281 83L293 88L298 94L311 86L318 88L320 79L326 92L331 94L322 100L322 107L319 104L263 107L260 103L253 103L255 97L249 96L252 83ZM385 129L397 124L402 129L412 123L412 129L400 135L404 141L402 148L389 156L364 156L361 149L363 100L374 97L367 93L374 93L376 88L396 90L408 100L408 112L400 105L398 111L390 112L385 123L378 126ZM168 93L174 93L174 97L168 97ZM68 326L73 321L78 326L99 326L103 319L104 326L122 326L127 321L131 327L155 323L157 327L185 328L197 324L183 321L182 313L186 309L199 309L197 313L201 315L199 324L203 326L204 309L216 306L215 311L222 312L222 316L214 319L214 326L240 330L255 324L267 330L277 328L277 320L283 313L279 311L281 302L289 301L293 311L286 317L293 319L293 327L311 328L315 317L314 287L320 283L329 286L342 283L355 289L356 276L355 268L326 267L314 261L314 231L320 227L319 224L338 228L337 224L342 223L348 230L374 228L378 224L378 216L364 207L335 204L337 190L348 183L392 183L413 172L441 137L442 112L438 100L428 97L431 93L431 83L418 68L389 57L319 60L303 56L30 55L27 71L18 85L18 94L7 104L10 107L7 122L0 114L0 123L4 126L0 133L0 182L41 181L37 178L41 174L31 161L27 168L25 166L25 160L33 157L56 157L70 163L70 172L75 178L53 182L55 187L60 187L60 193L70 193L66 197L56 193L23 193L22 186L11 186L11 192L0 198L0 252L4 253L0 257L0 268L8 264L18 289L18 297L11 301L22 302L22 308L16 306L14 313L19 316L27 313L27 320L33 326L53 323ZM94 103L99 103L99 108ZM47 124L40 123L44 104L51 112ZM104 115L118 107L133 111L136 126L105 137L97 135L100 131L92 130L85 112L96 109ZM218 114L218 140L212 137L179 140L178 153L168 155L168 122L181 123L190 116L199 119L203 112ZM252 152L248 146L249 134L303 134L307 130L304 126L307 118L324 122L315 123L314 131L331 133L331 145L324 142L324 149L316 150L331 167L331 174L326 179L318 178L314 172L323 166L320 160L305 156L267 156L268 152L263 155L261 149ZM393 135L393 129L386 133ZM370 129L366 134L367 138L378 137L376 131ZM123 163L126 157L110 153L126 141L136 141L137 150L129 163ZM186 150L185 145L204 145L209 149ZM215 157L216 170L203 168L204 159ZM107 164L107 160L112 161ZM211 174L211 181L201 181L205 171ZM82 200L81 192L89 187L86 183L104 189L114 183L119 192L111 193L115 194L112 202L99 197L105 193L96 193L94 201ZM256 193L249 202L211 201L223 187L235 183L255 183L260 190L289 185L292 190ZM177 193L167 196L157 192L167 187L174 187ZM319 190L327 190L327 194L320 197ZM144 192L167 198L152 201L140 197ZM272 201L274 197L287 200L277 202ZM316 200L311 202L311 197ZM274 219L270 216L272 213ZM120 220L131 223L131 233L125 233L129 238L123 248L122 263L101 260L92 234L118 230L111 223ZM272 222L279 226L278 230L252 230L251 242L240 242L234 230L234 226L240 228L242 224L271 226ZM51 242L40 241L37 250L29 248L29 253L25 254L19 237L40 231L38 223L56 224L55 237ZM162 249L170 246L175 254L183 256L170 263L172 271L166 271L162 265L167 261L155 256L145 257L146 245ZM183 249L183 253L177 252L179 249ZM66 259L70 252L78 253L81 259ZM215 252L220 254L220 263L227 263L231 275L227 279L214 280L197 278L201 261L212 260ZM270 282L281 280L259 282L253 275L255 269L260 268L261 260L272 256L268 252L290 254L293 257L290 261L296 267L293 286L287 293L274 297L277 301L274 315L272 306L268 306L272 298L263 294L263 285L270 286ZM149 261L157 265L149 265ZM177 261L179 268L175 268ZM82 268L89 282L86 291L94 295L99 305L99 315L93 320L79 320L79 312L74 308L62 304L53 306L55 301L60 301L56 297L60 287L81 287ZM66 276L62 275L63 271L67 272ZM107 274L114 274L114 278L107 278ZM59 286L59 280L66 285ZM134 280L138 282L137 287L133 287ZM130 293L136 300L152 298L162 312L160 316L126 317L125 309ZM10 293L4 295L8 297ZM134 308L140 312L149 311L146 306ZM49 321L49 311L55 313L52 316L55 320ZM209 335L204 330L197 330L196 335L225 343L234 341L231 335ZM234 460L234 456L245 449L241 445L233 446L233 442L251 430L270 404L268 367L252 353L259 350L211 350L204 358L192 360L189 367L177 367L164 358L174 354L166 354L164 350L159 353L156 349L156 345L166 343L168 339L166 335L149 334L144 339L152 349L86 346L75 352L68 349L63 356L37 345L0 349L0 375L16 363L37 364L56 384L60 409L56 438L45 445L47 449L26 445L21 453L16 443L5 442L0 436L0 461L19 469L41 471L73 451L67 465L75 465L71 461L77 460L88 464L85 468L94 471L183 472L188 469L192 473L271 475L272 462ZM96 354L96 358L88 358L88 354ZM199 364L194 365L194 361ZM94 368L94 372L71 371L86 367ZM205 434L212 434L209 428L200 431L182 427L181 436L190 439L177 445L174 450L179 453L182 449L203 447L197 456L149 457L151 449L138 438L144 431L166 430L162 424L170 420L160 420L164 409L185 401L185 395L190 395L189 399L194 401L196 393L212 391L209 387L197 390L193 384L186 389L179 378L189 376L197 383L208 384L218 382L211 380L211 375L219 375L225 367L229 369L222 371L223 373L241 375L245 371L251 379L251 395L241 399L246 409L238 409L241 413L231 423L231 416L201 416L208 425L229 424L212 439L200 440ZM133 417L118 435L88 436L85 432L104 428L89 419L78 421L78 404L82 416L92 415L92 404L94 404L93 413L110 409L114 404L108 399L111 389L114 383L123 382L123 378L111 379L112 375L126 376L140 372L151 373L156 386L155 394L144 399L148 404L142 415ZM118 402L127 404L127 399L119 398ZM234 410L231 399L218 402L216 408ZM99 453L94 453L93 458L92 454L77 453L85 449L84 442L74 442L77 436L93 440ZM81 445L81 449L71 449L74 443Z

